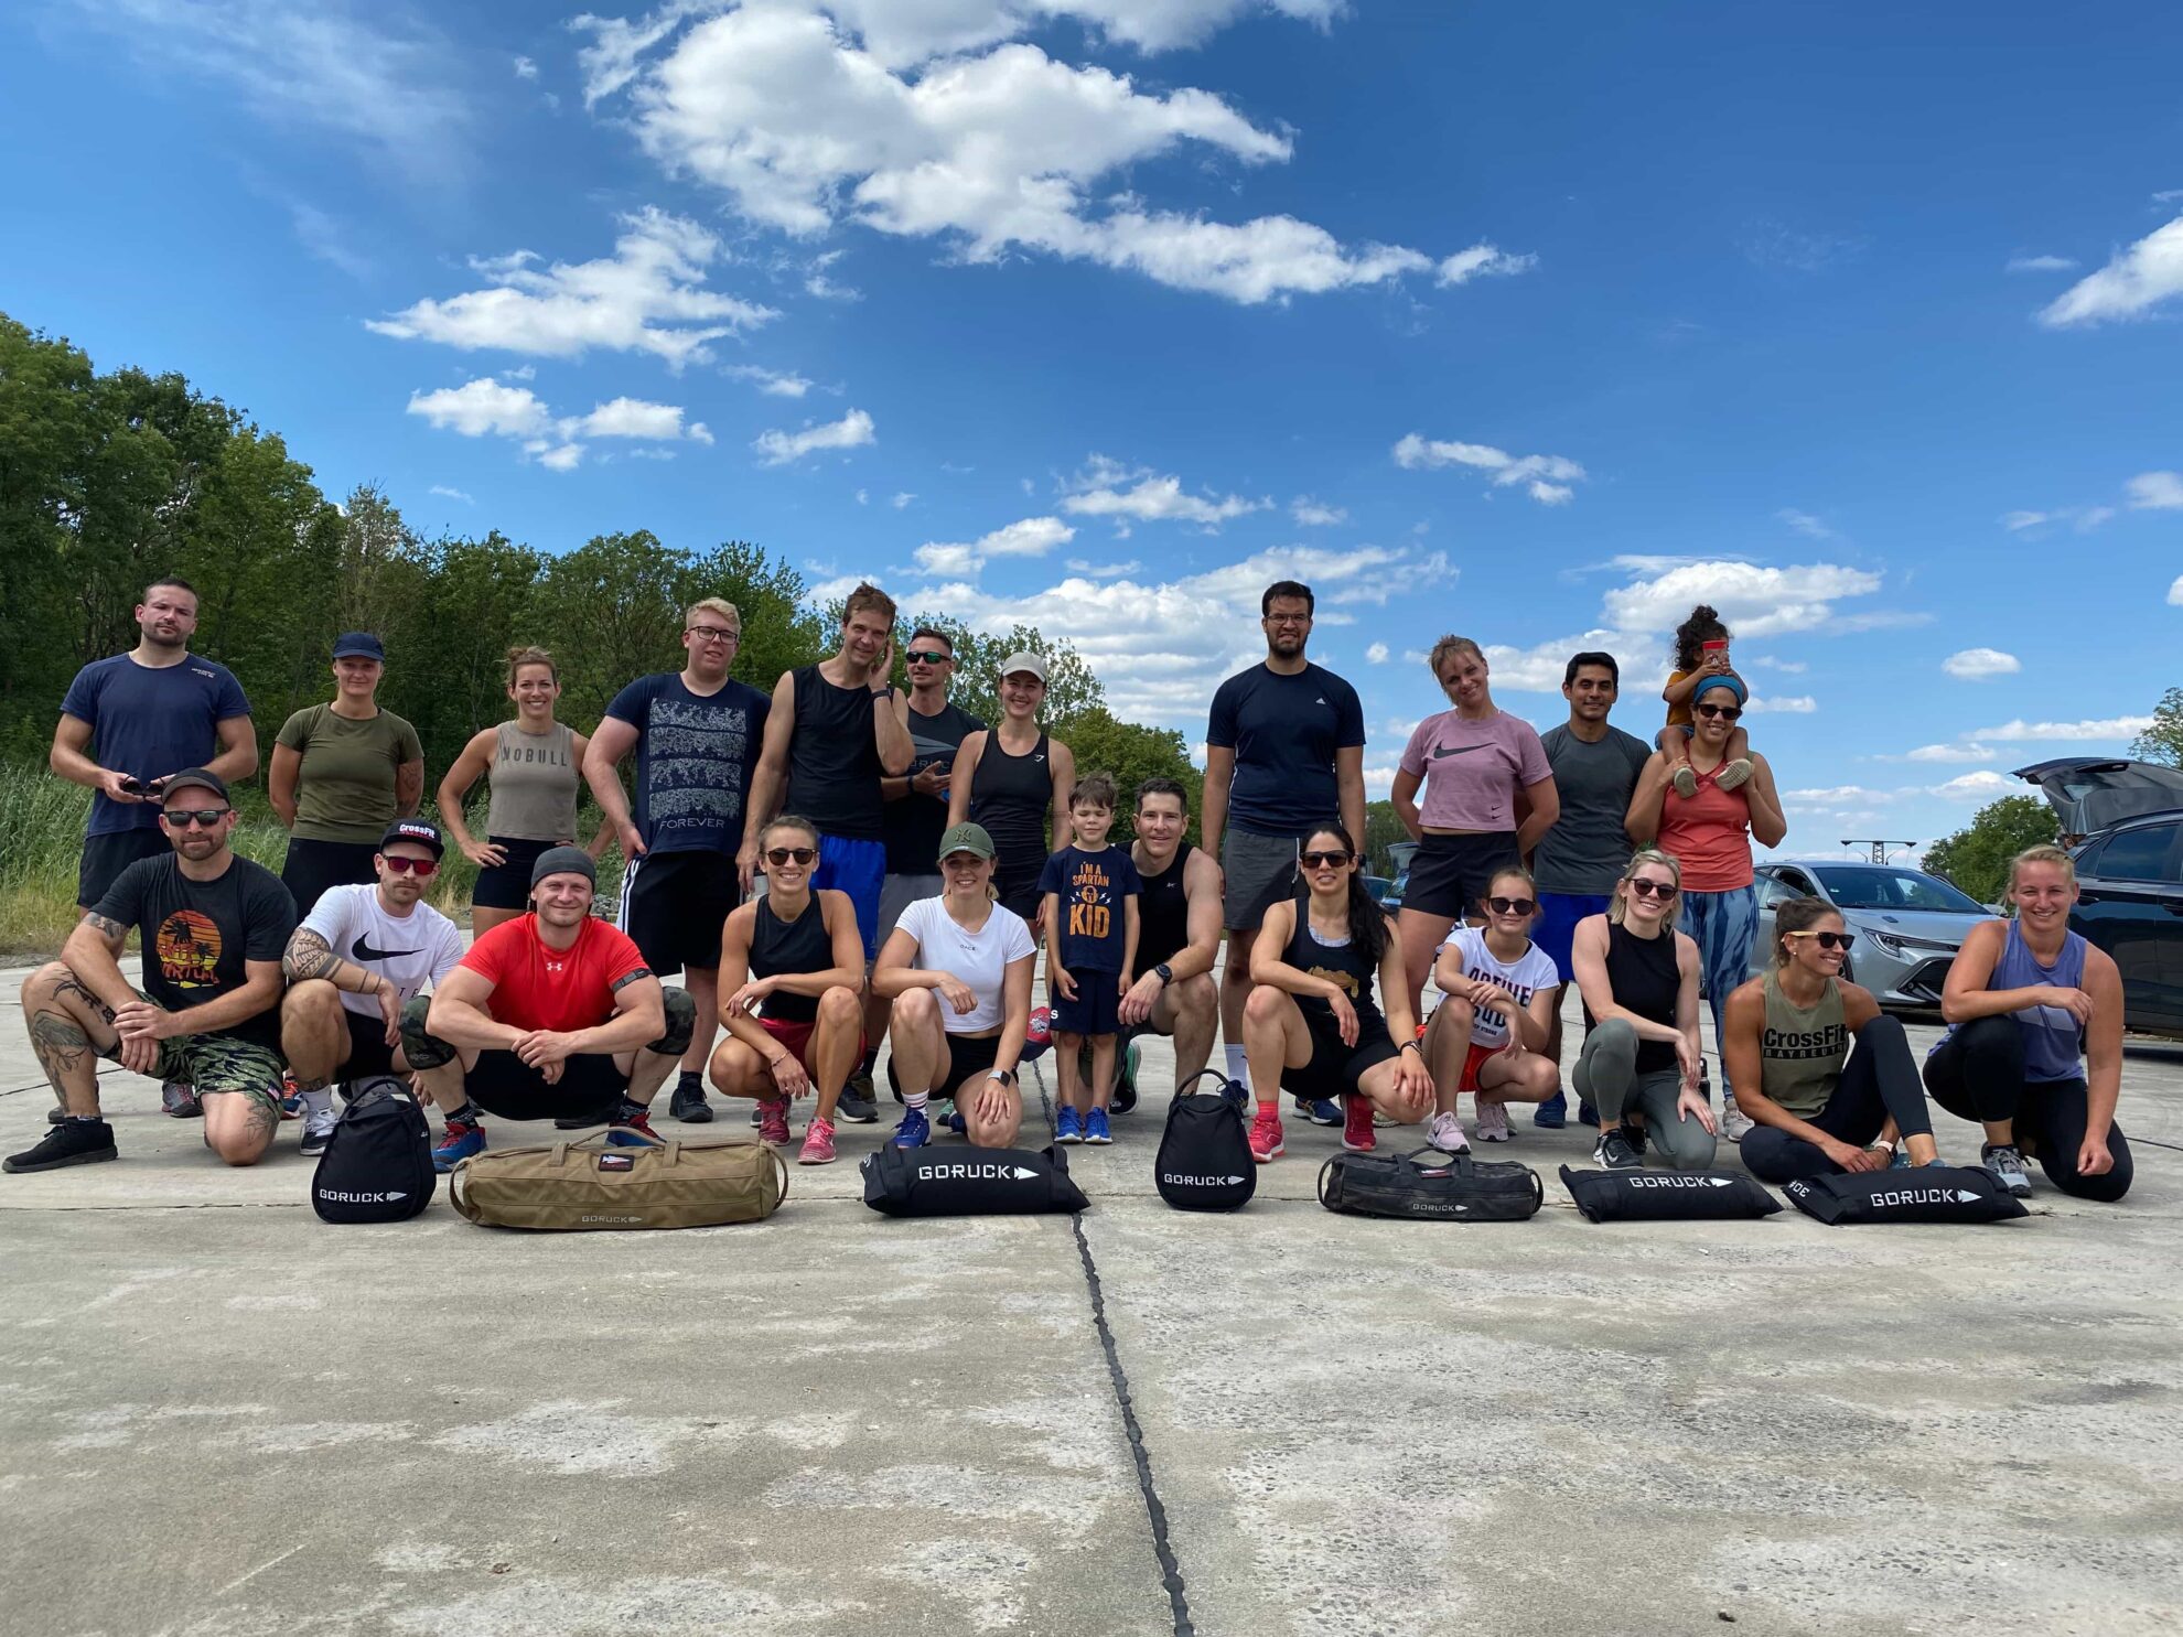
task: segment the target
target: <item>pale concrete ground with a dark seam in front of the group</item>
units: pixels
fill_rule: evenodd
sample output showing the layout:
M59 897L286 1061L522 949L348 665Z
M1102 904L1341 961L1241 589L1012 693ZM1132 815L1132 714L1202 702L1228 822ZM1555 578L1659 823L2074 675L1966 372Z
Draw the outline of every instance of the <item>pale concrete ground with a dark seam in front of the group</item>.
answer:
M118 1163L0 1179L20 1637L2183 1628L2183 1048L2126 1203L1982 1229L1594 1227L1528 1120L1530 1222L1332 1216L1295 1122L1185 1216L1157 1096L1078 1222L880 1218L882 1124L764 1224L336 1229L299 1126L234 1172L105 1091Z

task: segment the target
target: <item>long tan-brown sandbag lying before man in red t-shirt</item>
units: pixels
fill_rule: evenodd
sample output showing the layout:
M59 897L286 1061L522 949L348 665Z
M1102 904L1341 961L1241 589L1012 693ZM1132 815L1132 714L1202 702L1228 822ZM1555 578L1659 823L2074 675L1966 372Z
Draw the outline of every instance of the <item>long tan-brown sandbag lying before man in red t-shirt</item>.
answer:
M788 1166L758 1142L666 1142L613 1126L581 1142L489 1148L448 1176L448 1198L487 1227L603 1229L762 1222L788 1194Z

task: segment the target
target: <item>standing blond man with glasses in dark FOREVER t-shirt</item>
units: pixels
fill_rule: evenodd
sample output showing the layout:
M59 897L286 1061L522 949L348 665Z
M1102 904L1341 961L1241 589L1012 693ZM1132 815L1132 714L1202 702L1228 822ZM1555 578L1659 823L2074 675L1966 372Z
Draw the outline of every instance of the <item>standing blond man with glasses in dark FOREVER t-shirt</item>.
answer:
M742 642L733 602L709 596L683 618L679 672L629 683L592 729L583 777L622 840L620 928L659 978L677 971L696 1006L696 1035L681 1059L668 1111L712 1120L705 1061L718 1017L720 925L742 901L736 849L749 816L751 775L766 733L766 696L731 681ZM637 753L635 803L620 764Z

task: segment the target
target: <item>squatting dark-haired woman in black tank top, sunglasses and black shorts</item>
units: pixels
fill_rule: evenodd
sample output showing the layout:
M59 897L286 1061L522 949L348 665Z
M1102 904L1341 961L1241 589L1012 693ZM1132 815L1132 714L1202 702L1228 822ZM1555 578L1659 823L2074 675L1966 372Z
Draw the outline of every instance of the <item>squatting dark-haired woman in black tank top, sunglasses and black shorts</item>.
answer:
M1410 984L1395 928L1371 901L1358 851L1340 825L1305 832L1299 891L1266 908L1251 945L1251 997L1242 1043L1251 1061L1257 1118L1251 1159L1281 1148L1281 1087L1299 1098L1343 1098L1343 1148L1375 1146L1373 1113L1417 1124L1432 1113L1432 1076L1417 1043ZM1386 997L1386 1017L1373 987Z

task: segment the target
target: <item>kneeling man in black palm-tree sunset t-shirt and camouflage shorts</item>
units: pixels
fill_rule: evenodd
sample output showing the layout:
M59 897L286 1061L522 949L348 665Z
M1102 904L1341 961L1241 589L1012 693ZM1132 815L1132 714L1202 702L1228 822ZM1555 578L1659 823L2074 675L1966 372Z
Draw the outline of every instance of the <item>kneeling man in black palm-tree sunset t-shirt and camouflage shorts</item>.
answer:
M114 1159L100 1056L192 1085L205 1146L229 1166L255 1163L279 1128L279 956L295 899L273 871L236 858L236 810L218 773L170 773L159 823L172 851L124 869L61 958L22 987L31 1050L61 1109L41 1144L7 1159L9 1172ZM120 969L131 928L142 934L142 989Z

